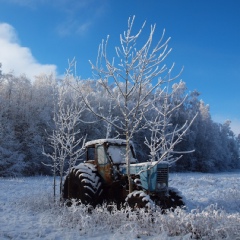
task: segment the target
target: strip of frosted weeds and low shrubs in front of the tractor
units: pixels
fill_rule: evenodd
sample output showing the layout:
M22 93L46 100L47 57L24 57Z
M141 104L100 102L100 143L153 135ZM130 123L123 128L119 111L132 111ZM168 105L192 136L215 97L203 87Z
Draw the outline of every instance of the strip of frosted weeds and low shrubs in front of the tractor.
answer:
M162 214L160 208L153 210L129 207L120 210L116 205L103 204L96 208L73 202L71 207L49 203L47 195L25 201L31 211L46 213L44 221L54 221L57 226L79 231L79 235L94 236L111 232L116 237L127 234L127 239L139 236L187 237L187 239L236 239L240 232L240 214L228 214L217 205L190 212L177 208ZM38 207L37 207L38 206Z

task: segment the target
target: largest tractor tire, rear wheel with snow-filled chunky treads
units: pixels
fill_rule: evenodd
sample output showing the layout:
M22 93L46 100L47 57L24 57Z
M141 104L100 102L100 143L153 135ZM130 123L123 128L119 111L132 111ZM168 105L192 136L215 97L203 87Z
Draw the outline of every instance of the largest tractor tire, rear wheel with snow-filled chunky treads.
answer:
M93 164L80 163L73 167L63 184L62 197L68 203L75 200L79 203L96 206L101 203L102 182Z

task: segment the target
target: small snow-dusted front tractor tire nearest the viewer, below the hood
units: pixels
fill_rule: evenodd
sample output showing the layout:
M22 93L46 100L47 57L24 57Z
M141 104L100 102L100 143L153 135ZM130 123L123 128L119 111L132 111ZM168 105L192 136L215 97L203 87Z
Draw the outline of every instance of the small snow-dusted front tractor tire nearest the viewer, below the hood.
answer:
M126 202L132 208L146 208L151 209L154 205L153 201L150 199L150 196L147 195L144 191L133 191L129 193Z

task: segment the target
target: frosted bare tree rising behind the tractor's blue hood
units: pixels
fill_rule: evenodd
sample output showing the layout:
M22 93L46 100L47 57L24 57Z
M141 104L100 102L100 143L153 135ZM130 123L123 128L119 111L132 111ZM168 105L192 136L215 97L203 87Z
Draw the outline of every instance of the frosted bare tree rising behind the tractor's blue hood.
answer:
M146 119L146 127L151 132L151 137L150 139L145 137L144 143L150 150L150 161L155 162L155 164L160 161L167 161L171 165L178 161L182 157L182 154L193 152L193 150L174 150L176 145L183 140L183 136L197 117L196 114L192 119L185 121L182 125L177 124L173 126L172 116L174 112L178 111L187 99L187 95L181 100L174 99L178 87L179 84L171 93L169 93L168 87L166 87L166 91L156 92L154 101L152 102L154 117L152 119ZM176 154L178 156L176 156Z

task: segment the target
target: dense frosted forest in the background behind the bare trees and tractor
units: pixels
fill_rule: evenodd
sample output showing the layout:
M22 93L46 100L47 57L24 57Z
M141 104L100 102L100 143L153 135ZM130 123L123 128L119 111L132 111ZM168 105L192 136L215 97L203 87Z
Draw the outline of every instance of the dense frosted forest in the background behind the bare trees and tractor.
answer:
M72 82L71 85L75 83ZM81 80L81 91L88 95L91 105L101 108L109 118L117 115L114 103L109 102L107 94L97 81ZM74 86L65 87L65 106L84 104L78 97ZM78 84L79 87L79 84ZM0 72L0 176L29 176L51 174L46 164L50 159L45 152L53 151L49 146L49 136L55 129L54 113L59 106L63 83L53 76L38 76L34 81L25 76ZM175 89L171 95L170 105L176 106L183 101L187 88L184 82L172 85ZM187 135L176 146L176 151L191 151L172 166L175 171L225 171L240 168L239 138L230 129L230 121L224 124L215 123L211 119L208 105L199 100L197 91L191 92L184 103L173 111L172 127L182 125L198 113ZM79 101L76 102L76 99ZM134 99L132 100L134 101ZM151 119L151 111L147 112ZM121 121L121 119L118 119ZM97 119L91 112L84 110L81 114L79 138L87 140L108 137L123 137L124 133L109 130L108 124ZM145 137L150 138L149 129L139 129L135 134L134 144L139 161L149 160ZM43 164L45 163L45 164Z

